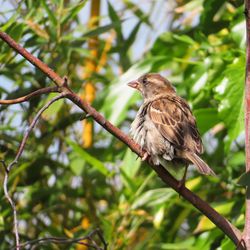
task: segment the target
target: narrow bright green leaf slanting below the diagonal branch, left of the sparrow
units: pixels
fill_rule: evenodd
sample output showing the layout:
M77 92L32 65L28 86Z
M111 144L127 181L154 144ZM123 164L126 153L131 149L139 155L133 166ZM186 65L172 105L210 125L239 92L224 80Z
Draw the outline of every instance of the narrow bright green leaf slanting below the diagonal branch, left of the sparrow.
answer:
M94 156L87 153L81 146L79 146L78 144L68 139L66 141L75 151L75 153L77 153L80 157L82 157L86 162L88 162L91 166L93 166L100 173L102 173L105 176L109 176L111 174L101 161L99 161Z

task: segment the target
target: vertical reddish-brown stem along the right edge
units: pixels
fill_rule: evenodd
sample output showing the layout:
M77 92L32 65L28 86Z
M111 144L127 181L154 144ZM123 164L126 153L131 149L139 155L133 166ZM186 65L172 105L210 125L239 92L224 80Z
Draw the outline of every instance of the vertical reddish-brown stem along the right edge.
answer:
M250 172L250 0L245 0L246 16L246 79L245 79L245 147L246 173ZM250 249L250 186L246 188L246 215L243 239L246 248Z

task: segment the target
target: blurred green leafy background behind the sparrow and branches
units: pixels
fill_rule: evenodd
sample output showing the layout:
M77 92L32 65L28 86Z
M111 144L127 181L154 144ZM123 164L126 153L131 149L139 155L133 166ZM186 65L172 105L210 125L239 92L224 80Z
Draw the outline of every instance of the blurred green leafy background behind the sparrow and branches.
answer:
M91 1L0 1L1 30L59 75L75 92L95 86L93 106L128 133L141 97L126 83L160 72L187 99L218 178L189 171L187 186L240 229L244 223L243 96L245 24L241 0L101 1L89 26ZM98 36L98 56L88 41ZM107 48L109 45L109 49ZM88 60L100 70L83 77ZM0 42L0 97L11 99L53 83ZM52 95L0 107L0 159L10 162L36 111ZM82 147L82 114L59 101L28 140L9 189L22 241L76 238L99 227L110 249L233 249L230 240L152 170L94 124ZM91 120L91 119L90 119ZM190 168L191 169L191 168ZM0 171L3 183L4 169ZM0 187L0 248L13 244L12 211ZM45 245L39 249L85 249Z

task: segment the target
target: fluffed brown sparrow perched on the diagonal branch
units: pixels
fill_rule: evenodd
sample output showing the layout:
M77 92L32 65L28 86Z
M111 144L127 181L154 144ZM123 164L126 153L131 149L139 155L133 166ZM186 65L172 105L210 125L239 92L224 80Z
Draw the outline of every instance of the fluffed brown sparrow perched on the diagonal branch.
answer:
M189 163L201 174L215 175L199 157L203 153L196 120L187 102L179 97L171 83L156 73L141 76L128 83L142 93L144 102L131 124L133 139L147 152L155 165L166 161L182 162L185 183Z

